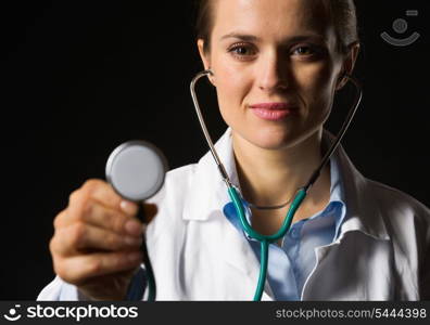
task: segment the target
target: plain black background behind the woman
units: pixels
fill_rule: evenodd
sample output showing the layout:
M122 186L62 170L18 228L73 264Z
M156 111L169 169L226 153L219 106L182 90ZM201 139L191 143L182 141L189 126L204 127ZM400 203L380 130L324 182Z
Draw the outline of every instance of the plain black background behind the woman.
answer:
M428 1L357 1L364 101L343 146L366 177L427 206ZM202 65L189 1L2 1L2 223L0 299L36 299L54 276L52 221L72 191L104 178L111 151L130 139L155 143L170 168L206 152L189 82ZM419 10L418 17L405 11ZM409 23L404 35L395 18ZM418 31L407 47L385 43ZM198 87L214 139L225 125L214 89ZM336 101L336 132L353 95Z

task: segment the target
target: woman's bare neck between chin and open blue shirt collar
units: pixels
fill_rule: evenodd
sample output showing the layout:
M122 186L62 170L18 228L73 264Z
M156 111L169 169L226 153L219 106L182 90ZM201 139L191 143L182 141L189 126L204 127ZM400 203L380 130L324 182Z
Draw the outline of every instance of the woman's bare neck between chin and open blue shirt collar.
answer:
M244 198L258 206L281 205L304 186L321 161L321 131L300 144L266 150L232 133L238 177ZM330 195L330 169L326 166L307 195L307 205L320 205Z

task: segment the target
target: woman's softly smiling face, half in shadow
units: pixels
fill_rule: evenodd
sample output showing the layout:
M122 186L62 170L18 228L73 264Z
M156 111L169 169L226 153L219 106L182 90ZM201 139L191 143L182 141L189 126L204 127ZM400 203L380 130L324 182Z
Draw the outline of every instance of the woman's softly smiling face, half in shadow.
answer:
M278 150L315 134L343 63L321 1L214 1L210 53L198 44L235 136Z

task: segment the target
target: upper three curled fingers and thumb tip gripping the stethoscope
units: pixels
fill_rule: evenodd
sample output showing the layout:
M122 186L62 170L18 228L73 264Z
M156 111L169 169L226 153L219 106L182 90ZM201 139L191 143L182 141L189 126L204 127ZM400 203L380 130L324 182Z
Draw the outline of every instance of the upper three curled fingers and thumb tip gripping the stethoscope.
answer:
M55 233L50 243L53 257L138 247L144 226L135 216L127 213L136 214L139 207L116 196L105 182L99 180L86 182L71 195L68 207L54 220ZM115 204L110 199L116 199L119 208L112 208ZM143 205L143 210L148 222L157 212L153 204Z

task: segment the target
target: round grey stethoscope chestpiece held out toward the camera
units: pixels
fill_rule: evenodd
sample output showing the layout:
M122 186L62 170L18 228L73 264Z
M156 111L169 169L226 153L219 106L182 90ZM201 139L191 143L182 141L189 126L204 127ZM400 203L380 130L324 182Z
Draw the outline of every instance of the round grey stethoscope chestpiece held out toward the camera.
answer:
M118 195L132 202L143 202L160 191L167 170L167 160L156 146L134 140L112 152L105 173Z

